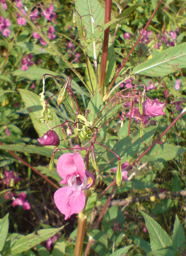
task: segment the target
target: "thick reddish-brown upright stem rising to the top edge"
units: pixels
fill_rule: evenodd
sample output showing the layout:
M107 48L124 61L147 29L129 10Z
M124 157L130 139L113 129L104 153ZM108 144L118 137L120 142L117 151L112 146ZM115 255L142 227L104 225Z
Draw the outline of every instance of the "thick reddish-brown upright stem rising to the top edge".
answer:
M106 0L105 24L111 20L111 6L112 6L112 0ZM101 97L103 97L104 95L104 80L105 80L106 60L107 60L107 53L108 53L109 33L110 33L110 27L106 28L106 30L104 31L102 62L101 62L99 84L98 84L98 89L100 90Z

